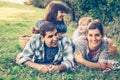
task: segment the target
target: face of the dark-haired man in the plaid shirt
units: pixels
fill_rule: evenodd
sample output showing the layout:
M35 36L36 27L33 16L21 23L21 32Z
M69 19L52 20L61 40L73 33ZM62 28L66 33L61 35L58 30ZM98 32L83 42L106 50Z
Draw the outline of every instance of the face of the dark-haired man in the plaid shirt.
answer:
M48 47L58 46L57 30L46 32L46 35L42 37L43 41Z

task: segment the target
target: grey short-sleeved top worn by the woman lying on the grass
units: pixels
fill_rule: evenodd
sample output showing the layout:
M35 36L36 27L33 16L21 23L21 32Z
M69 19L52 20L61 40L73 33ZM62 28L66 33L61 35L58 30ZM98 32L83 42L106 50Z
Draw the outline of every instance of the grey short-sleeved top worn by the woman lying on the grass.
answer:
M93 56L92 59L88 56L89 47L87 40L84 40L82 38L78 38L75 41L75 54L78 52L78 50L81 51L83 57L91 62L104 62L107 63L108 61L108 43L106 40L102 40L99 49L95 52L97 53L95 56Z

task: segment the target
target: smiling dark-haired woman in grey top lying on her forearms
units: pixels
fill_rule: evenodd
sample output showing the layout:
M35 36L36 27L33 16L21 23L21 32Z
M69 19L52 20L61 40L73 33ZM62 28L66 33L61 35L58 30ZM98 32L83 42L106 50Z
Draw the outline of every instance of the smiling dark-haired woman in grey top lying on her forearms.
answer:
M108 43L103 37L102 24L99 21L90 22L87 40L78 38L75 43L75 61L89 68L105 69L108 61Z

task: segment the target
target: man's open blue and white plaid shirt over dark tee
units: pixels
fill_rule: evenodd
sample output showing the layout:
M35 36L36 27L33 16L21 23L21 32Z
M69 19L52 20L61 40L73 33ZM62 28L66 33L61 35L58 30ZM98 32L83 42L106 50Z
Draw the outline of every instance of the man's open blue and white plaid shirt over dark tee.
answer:
M74 66L72 45L70 44L69 39L64 38L62 40L59 40L58 48L58 53L55 55L52 64L58 65L63 63L66 65L67 69ZM35 34L27 43L22 53L18 54L18 63L22 64L25 61L30 60L36 63L45 64L44 56L44 42L42 41L40 34Z

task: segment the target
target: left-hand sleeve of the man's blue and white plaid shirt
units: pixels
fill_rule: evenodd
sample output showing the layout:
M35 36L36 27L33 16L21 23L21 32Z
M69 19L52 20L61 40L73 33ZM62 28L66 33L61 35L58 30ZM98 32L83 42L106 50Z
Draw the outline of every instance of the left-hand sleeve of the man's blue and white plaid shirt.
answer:
M18 64L22 64L25 61L33 61L34 51L35 51L35 44L36 44L36 36L32 36L30 41L27 43L25 48L21 53L18 54Z

